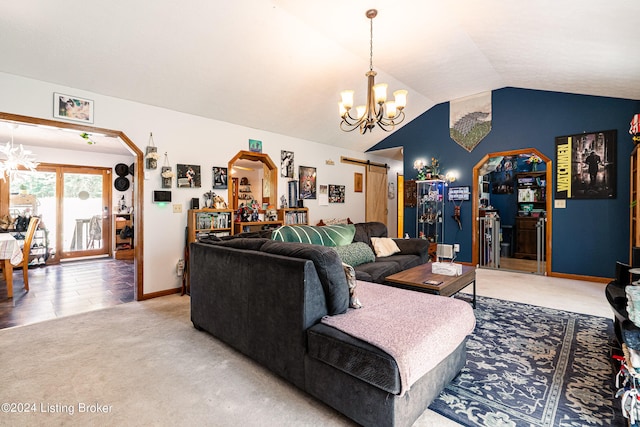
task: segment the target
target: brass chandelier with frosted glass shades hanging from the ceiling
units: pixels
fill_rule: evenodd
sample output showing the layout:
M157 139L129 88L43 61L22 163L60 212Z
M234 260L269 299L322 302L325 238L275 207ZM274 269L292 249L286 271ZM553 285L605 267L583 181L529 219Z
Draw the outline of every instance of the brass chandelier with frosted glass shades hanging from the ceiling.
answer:
M377 73L373 71L373 18L377 14L378 11L376 9L369 9L365 14L370 20L369 71L365 74L367 77L367 104L358 105L356 107L356 117L353 117L351 109L353 107L354 91L345 90L340 93L342 97L342 102L338 103L340 117L342 118L340 129L345 132L360 129L360 133L364 135L367 131L373 131L376 124L385 132L390 132L395 125L402 123L404 120L407 91L397 90L393 92L395 101L387 101L387 84L375 84Z

